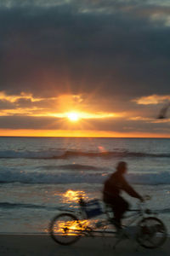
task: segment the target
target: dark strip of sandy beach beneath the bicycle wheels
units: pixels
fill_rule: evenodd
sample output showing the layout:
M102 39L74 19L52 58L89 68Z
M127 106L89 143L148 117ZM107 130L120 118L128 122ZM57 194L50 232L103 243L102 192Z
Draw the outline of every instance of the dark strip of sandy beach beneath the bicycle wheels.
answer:
M169 238L163 247L145 249L137 247L133 241L124 240L116 249L112 248L112 239L85 238L71 246L60 246L48 235L0 235L1 256L97 256L97 255L169 255Z

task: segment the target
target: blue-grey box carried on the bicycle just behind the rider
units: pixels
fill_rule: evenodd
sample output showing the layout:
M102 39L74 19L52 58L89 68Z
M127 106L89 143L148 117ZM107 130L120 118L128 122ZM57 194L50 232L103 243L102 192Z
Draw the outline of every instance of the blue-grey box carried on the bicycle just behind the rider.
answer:
M99 200L97 199L86 202L83 210L86 213L87 218L93 218L104 213Z

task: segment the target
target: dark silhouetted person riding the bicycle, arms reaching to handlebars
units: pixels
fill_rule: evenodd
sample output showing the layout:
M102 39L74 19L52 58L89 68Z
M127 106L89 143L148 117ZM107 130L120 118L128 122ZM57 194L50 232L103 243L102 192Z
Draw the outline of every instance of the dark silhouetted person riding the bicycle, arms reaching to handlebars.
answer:
M129 185L124 177L124 174L127 172L127 163L121 161L116 166L116 172L111 174L105 181L104 185L104 201L107 204L111 204L112 210L114 212L113 223L116 226L116 229L119 230L122 228L122 216L124 212L127 212L129 204L125 201L121 194L121 191L124 190L128 195L131 195L135 198L138 198L140 201L144 201L141 195L139 195L131 185Z

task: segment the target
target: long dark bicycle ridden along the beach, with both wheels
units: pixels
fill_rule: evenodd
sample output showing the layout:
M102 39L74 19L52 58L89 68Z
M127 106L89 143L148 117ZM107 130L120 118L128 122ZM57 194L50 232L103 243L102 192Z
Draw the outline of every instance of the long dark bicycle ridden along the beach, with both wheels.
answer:
M149 200L148 197L145 199ZM140 246L150 249L161 247L167 239L167 229L161 219L155 217L156 213L146 209L144 203L140 203L138 209L128 212L133 213L124 217L129 219L127 225L123 226L121 232L117 232L110 205L105 204L104 210L99 200L86 202L80 196L77 214L68 209L55 216L50 222L49 234L61 245L70 245L82 236L115 236L117 241L113 247L116 247L123 238L130 238L127 230L136 223L136 226L131 227L134 228L134 238ZM89 225L92 218L101 214L105 215L104 220L94 220L94 224Z

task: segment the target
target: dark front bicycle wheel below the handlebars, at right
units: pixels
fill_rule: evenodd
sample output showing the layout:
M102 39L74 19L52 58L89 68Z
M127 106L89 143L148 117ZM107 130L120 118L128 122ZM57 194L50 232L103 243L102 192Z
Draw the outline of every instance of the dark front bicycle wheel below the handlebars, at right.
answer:
M138 224L137 241L142 247L156 248L167 239L167 229L159 218L143 218Z

